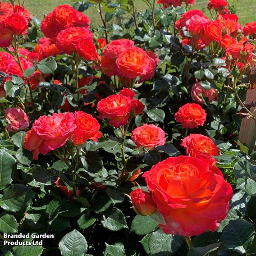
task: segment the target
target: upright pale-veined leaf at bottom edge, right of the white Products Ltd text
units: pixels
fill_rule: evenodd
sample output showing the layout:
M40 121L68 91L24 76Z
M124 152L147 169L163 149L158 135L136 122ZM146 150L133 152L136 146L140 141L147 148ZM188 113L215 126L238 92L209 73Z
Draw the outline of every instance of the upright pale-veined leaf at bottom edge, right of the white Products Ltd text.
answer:
M87 242L85 237L76 229L66 234L59 242L59 250L62 256L85 256Z

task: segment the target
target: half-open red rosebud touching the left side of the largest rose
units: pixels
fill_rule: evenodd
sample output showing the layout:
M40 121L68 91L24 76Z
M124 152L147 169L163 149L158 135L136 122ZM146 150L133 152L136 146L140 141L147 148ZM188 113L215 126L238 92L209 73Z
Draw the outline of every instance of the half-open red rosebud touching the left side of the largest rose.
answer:
M152 200L150 193L137 188L130 193L130 197L138 214L151 215L156 210L155 202Z

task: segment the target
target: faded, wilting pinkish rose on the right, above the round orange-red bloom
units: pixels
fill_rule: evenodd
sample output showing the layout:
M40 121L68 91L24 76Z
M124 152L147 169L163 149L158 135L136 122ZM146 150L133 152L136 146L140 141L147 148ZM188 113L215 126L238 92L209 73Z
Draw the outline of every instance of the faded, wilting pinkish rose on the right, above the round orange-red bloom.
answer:
M202 94L205 98L208 98L209 103L218 100L218 92L214 88L206 90L201 86L199 82L194 83L191 88L192 101L204 104L204 101L200 94Z

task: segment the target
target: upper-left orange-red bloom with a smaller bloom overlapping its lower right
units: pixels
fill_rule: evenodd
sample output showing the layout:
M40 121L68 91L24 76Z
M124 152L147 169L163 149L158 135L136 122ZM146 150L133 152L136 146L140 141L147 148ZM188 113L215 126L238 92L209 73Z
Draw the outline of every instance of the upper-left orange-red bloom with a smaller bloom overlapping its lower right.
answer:
M92 33L85 27L70 27L59 32L56 46L66 54L72 54L81 41L91 41Z

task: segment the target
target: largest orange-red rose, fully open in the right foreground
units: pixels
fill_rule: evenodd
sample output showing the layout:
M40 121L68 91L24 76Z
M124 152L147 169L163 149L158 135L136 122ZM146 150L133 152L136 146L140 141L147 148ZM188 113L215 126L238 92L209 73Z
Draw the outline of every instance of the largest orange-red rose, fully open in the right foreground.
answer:
M143 175L165 233L198 236L226 218L232 187L221 171L189 156L169 157Z

